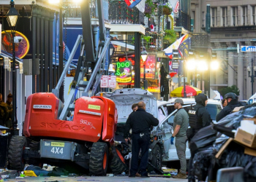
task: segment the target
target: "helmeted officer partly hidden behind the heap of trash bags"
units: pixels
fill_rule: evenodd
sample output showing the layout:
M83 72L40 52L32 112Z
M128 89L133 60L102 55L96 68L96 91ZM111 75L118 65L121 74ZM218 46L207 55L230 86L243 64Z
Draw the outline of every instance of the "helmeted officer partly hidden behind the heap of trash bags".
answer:
M244 106L241 102L238 102L238 96L233 92L225 94L224 98L227 100L227 106L225 106L225 108L223 108L222 111L217 114L217 122L228 114L231 114L234 108Z

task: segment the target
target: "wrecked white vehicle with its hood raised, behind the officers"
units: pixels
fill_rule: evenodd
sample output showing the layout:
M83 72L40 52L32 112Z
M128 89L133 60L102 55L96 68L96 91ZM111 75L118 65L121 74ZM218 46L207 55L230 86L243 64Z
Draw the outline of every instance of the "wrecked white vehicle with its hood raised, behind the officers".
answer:
M116 108L118 110L118 124L116 134L118 137L116 141L124 140L121 138L124 132L125 123L129 114L132 112L132 104L143 101L146 103L146 111L151 113L157 119L159 119L159 125L154 127L151 131L151 136L153 138L154 144L151 146L151 150L154 150L154 146L157 149L161 149L161 157L153 155L155 152L151 152L149 155L150 161L159 167L161 161L166 162L178 162L178 156L176 152L176 146L170 145L170 138L173 133L173 118L176 114L176 109L174 109L174 100L170 99L168 101L157 100L151 92L147 90L135 89L119 89L114 92L103 93L103 97L110 98L116 103ZM194 98L182 98L184 100L184 108L187 110L189 107L195 105ZM222 109L221 103L218 100L208 100L208 105L206 107L211 114L211 119L215 122L215 117ZM163 145L162 145L163 143ZM128 151L127 151L128 152ZM127 154L127 152L122 152L122 154ZM162 158L163 157L163 158ZM190 158L190 151L186 149L186 158Z

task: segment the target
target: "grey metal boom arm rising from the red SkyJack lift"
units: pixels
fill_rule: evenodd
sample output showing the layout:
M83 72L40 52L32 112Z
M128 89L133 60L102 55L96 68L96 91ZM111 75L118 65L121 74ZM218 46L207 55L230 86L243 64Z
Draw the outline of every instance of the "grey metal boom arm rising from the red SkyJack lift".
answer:
M78 66L75 72L75 77L72 81L72 86L69 91L68 98L64 101L64 108L59 115L59 119L66 120L69 111L74 111L73 100L75 99L75 91L78 88L83 88L84 91L82 93L83 96L92 96L96 91L99 81L102 76L102 71L105 66L105 58L108 53L107 50L110 44L110 38L105 36L105 25L104 25L104 15L102 13L102 0L97 0L97 8L99 14L99 44L96 54L94 53L94 39L93 39L93 31L91 25L91 12L90 12L90 1L83 0L80 4L80 11L82 15L82 27L83 27L83 36L78 36L77 41L75 42L75 46L67 60L66 66L64 68L63 73L61 74L61 78L55 89L53 89L53 93L59 98L59 89L61 87L62 82L67 74L68 68L72 62L72 59L75 55L76 50L78 49L78 45L80 44L80 57L78 58ZM89 66L91 66L91 77L88 81L83 81L83 77L85 73L89 73Z

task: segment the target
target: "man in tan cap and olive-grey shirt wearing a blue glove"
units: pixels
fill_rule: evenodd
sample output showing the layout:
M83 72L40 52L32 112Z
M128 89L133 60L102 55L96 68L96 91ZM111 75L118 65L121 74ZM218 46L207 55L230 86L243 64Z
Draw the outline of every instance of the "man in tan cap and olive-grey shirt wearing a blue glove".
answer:
M176 98L174 100L174 108L178 109L176 115L173 119L173 135L170 139L170 144L173 145L173 140L175 139L175 146L178 154L178 159L181 163L181 170L178 175L173 176L173 178L187 179L187 161L186 161L186 142L187 142L187 127L189 125L189 115L182 106L184 105L181 98Z

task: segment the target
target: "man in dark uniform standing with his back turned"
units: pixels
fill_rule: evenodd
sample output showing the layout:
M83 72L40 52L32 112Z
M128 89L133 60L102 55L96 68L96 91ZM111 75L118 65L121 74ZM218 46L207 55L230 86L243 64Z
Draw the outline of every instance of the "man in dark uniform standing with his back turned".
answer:
M132 129L132 162L129 171L129 177L135 177L138 172L138 156L141 149L140 171L141 177L149 177L147 174L148 166L148 145L150 141L149 129L151 126L159 124L152 114L147 113L146 104L143 101L138 103L138 110L129 114L126 123L125 137L128 136L129 130Z

